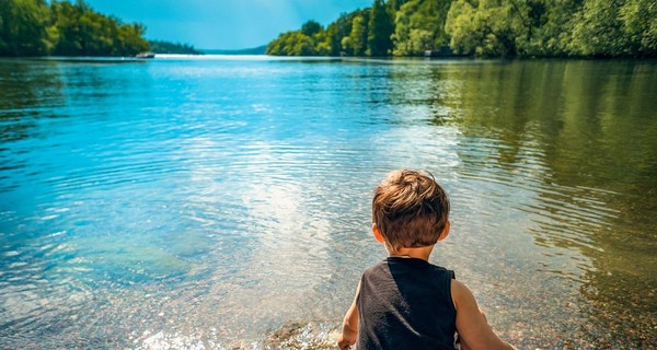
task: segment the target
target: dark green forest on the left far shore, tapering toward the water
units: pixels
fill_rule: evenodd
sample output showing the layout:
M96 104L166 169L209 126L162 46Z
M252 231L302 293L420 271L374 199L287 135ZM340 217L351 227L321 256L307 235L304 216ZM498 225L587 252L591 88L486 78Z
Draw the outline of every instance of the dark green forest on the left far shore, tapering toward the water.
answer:
M0 0L0 56L200 54L193 46L143 38L146 27L94 11L83 0Z

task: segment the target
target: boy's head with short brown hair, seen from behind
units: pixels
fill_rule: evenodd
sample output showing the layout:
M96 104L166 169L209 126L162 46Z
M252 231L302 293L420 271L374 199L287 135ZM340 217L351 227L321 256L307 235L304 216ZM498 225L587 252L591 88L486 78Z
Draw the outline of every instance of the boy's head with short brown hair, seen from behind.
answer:
M394 250L436 244L448 215L449 198L428 172L394 171L374 189L372 221Z

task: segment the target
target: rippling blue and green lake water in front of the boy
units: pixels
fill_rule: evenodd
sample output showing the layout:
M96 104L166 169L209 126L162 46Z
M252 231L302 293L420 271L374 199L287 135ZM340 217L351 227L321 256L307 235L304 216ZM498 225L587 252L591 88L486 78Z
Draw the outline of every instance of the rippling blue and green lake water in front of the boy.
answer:
M657 345L657 61L5 59L0 92L0 348L331 338L402 167L500 337Z

